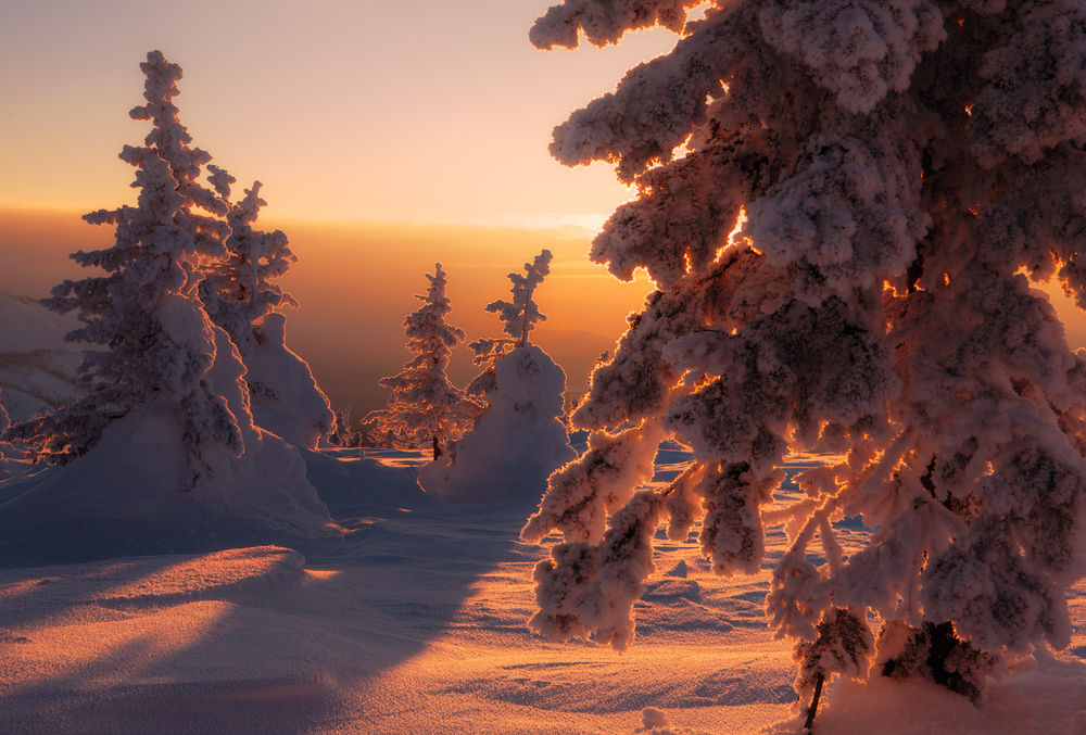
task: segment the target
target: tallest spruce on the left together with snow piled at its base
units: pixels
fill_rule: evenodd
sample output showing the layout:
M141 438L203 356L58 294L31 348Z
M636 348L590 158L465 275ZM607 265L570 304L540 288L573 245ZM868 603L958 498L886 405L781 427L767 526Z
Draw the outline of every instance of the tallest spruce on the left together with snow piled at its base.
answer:
M241 356L200 300L202 266L225 257L230 227L220 192L200 180L211 156L190 145L178 119L181 68L159 51L140 68L147 103L130 116L152 128L143 145L121 153L136 168L137 205L85 216L115 227L111 248L73 255L105 275L64 281L42 302L85 322L66 339L94 347L80 367L91 392L9 430L38 458L76 461L4 504L0 527L41 535L54 523L88 534L79 543L96 548L131 541L102 537L93 521L111 514L144 514L147 532L163 536L156 523L168 518L185 525L176 538L182 545L200 543L204 518L211 533L220 532L222 511L265 528L323 532L327 508L301 456L253 424Z

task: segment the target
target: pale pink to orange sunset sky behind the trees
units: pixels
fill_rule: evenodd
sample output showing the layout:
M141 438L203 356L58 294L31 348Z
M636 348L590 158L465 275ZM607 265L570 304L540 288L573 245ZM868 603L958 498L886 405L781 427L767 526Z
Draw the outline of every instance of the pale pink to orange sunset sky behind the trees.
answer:
M535 340L583 389L648 286L621 284L584 258L592 233L631 192L607 166L568 169L552 127L667 51L666 31L619 47L536 51L528 28L548 2L415 0L49 0L0 11L0 289L45 295L79 277L65 257L110 232L78 214L132 200L117 160L146 123L139 62L159 48L186 72L177 102L194 142L240 187L264 182L261 226L280 227L302 301L288 341L337 402L382 401L377 379L406 355L400 322L440 261L451 320L497 334L483 306L543 246L539 291L551 320ZM1066 302L1069 338L1086 320ZM466 351L453 378L471 373Z

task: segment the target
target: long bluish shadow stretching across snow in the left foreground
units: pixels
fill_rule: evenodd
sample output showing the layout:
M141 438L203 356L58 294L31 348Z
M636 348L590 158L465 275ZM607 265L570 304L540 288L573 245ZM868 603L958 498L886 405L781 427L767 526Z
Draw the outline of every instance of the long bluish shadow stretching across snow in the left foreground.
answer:
M173 525L197 519L165 519L118 534L111 518L50 527L48 515L24 517L17 504L5 515L0 505L7 534L0 580L9 593L18 588L0 609L0 647L30 645L37 626L80 620L84 612L134 625L122 644L90 662L7 687L0 731L302 733L365 722L352 693L447 630L481 574L540 555L515 541L533 504L451 505L422 493L409 468L318 453L306 461L344 533L291 537L213 518L199 528ZM216 535L218 522L226 525ZM139 586L193 556L267 544L301 550L307 571L287 569L272 572L270 584L191 595L151 590L138 599L111 597L118 585ZM64 566L42 567L50 563ZM178 605L216 601L228 605L217 606L199 636L166 652L139 624ZM118 672L131 680L117 682Z

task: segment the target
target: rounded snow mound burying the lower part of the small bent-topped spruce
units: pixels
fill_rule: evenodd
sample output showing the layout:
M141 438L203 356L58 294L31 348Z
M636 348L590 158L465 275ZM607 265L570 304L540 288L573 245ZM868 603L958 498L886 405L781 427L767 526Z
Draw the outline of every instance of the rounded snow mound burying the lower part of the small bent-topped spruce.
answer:
M561 415L566 373L533 344L495 366L490 405L449 456L419 470L419 484L455 503L539 502L546 479L577 453Z

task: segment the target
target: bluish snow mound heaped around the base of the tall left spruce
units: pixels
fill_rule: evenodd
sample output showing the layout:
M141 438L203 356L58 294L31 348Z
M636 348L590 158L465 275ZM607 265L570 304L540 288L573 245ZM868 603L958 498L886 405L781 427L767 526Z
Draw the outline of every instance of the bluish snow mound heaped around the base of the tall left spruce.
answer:
M205 451L210 471L186 492L177 413L160 400L115 421L76 461L0 483L0 560L294 546L336 535L301 455L260 430L240 458Z

